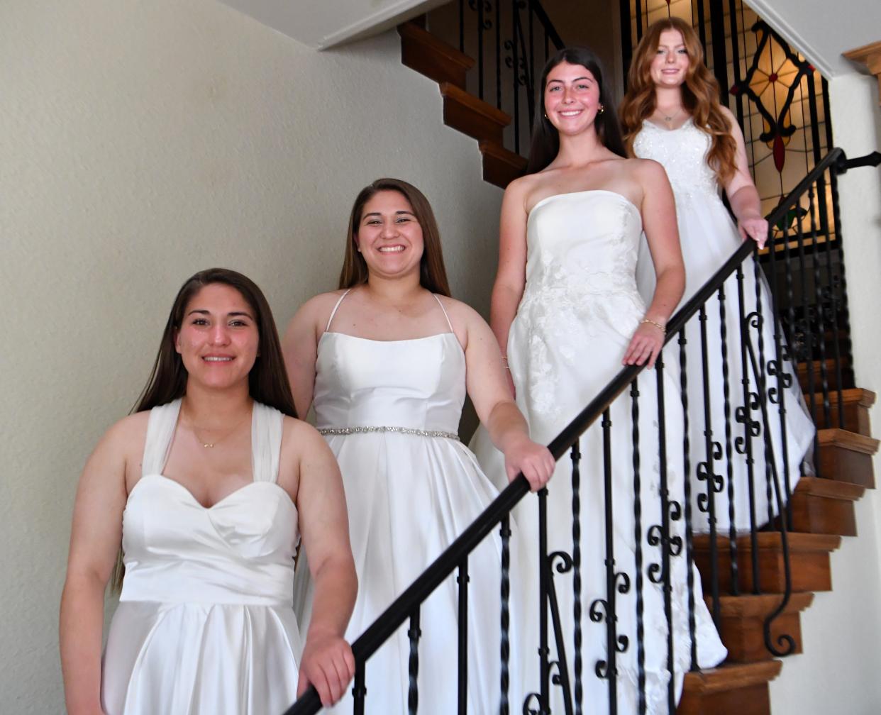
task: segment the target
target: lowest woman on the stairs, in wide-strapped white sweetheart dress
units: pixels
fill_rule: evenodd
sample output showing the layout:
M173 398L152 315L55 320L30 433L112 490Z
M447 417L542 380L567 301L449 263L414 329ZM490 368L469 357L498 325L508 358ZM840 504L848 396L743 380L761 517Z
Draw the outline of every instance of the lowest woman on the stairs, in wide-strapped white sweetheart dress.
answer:
M189 278L135 413L79 482L61 606L70 715L270 715L309 684L324 704L340 697L356 591L343 487L295 414L260 289L227 269ZM305 647L292 609L300 533L321 604Z

